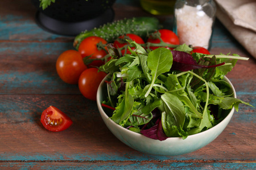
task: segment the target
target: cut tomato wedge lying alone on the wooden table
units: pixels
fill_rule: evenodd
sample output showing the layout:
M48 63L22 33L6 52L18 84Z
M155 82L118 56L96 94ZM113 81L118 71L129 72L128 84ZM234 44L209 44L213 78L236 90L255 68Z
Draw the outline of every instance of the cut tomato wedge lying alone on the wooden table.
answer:
M50 106L43 111L41 122L49 131L63 131L73 124L67 114L61 112L56 107Z

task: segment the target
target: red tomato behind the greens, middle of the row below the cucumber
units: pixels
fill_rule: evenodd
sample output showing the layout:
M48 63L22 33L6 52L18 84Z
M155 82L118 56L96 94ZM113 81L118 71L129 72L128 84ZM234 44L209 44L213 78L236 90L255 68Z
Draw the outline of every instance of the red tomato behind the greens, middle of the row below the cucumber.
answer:
M129 37L129 39L137 42L138 44L144 44L145 43L140 36L135 35L133 33L127 33L126 35L122 35L122 36L118 37L118 39L121 39L121 41L123 40L123 42L119 42L118 40L114 41L114 47L115 48L122 48L123 46L127 45L128 44L128 42L126 42L127 37ZM131 47L131 49L134 50L135 48ZM124 55L125 54L125 49L121 50L121 53ZM131 52L128 49L127 49L126 53L131 54Z

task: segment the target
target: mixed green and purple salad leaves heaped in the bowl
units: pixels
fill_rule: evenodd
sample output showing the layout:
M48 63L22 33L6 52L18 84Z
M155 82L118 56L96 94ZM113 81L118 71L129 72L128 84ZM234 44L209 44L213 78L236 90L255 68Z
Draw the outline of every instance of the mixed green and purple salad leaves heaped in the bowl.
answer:
M135 50L128 46L131 54L123 57L109 44L112 59L100 67L109 78L102 105L112 108L108 116L124 128L160 141L185 139L218 124L232 107L250 105L232 97L222 80L238 59L248 58L191 54L185 44L151 51L129 43Z

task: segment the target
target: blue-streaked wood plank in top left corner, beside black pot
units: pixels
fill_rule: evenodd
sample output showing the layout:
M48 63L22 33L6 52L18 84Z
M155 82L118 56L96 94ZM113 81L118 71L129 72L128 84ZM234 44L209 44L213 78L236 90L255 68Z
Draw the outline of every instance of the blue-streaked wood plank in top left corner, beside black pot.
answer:
M71 40L39 28L35 22L36 8L30 0L0 1L1 40Z

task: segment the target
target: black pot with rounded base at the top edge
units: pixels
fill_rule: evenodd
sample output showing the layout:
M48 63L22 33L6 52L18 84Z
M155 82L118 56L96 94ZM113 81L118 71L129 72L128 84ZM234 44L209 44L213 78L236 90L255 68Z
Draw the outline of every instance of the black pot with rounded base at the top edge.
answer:
M56 0L45 10L39 0L32 0L38 9L37 24L49 32L75 36L114 19L115 0Z

